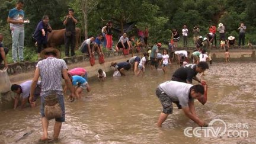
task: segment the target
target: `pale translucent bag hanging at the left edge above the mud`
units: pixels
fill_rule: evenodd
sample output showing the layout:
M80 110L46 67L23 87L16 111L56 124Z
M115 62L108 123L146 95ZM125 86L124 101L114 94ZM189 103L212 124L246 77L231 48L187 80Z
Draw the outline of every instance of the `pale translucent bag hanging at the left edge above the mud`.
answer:
M11 82L9 81L9 76L7 69L5 71L0 71L0 92L11 91Z

